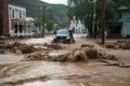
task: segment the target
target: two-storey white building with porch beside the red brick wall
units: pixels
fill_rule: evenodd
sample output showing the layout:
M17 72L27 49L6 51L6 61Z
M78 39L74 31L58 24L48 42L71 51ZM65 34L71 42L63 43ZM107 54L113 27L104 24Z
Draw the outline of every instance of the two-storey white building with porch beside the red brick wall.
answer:
M32 22L26 19L26 9L9 4L9 31L11 37L31 35Z

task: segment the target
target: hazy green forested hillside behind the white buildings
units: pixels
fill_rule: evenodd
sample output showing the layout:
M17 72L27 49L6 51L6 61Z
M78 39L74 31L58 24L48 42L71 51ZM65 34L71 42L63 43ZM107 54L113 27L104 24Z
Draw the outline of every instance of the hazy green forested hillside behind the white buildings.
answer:
M57 22L67 20L67 5L49 4L40 0L9 0L10 4L26 8L28 17L41 17L43 3L51 9L51 14Z

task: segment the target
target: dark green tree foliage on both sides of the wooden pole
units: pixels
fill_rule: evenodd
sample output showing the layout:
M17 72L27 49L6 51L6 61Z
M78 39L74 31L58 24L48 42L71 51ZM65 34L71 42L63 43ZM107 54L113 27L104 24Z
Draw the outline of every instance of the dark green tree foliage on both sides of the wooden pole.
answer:
M75 15L77 19L84 23L91 37L96 38L101 32L101 1L102 0L68 0L69 17ZM118 8L130 6L130 0L104 0L105 1L105 25L118 20Z

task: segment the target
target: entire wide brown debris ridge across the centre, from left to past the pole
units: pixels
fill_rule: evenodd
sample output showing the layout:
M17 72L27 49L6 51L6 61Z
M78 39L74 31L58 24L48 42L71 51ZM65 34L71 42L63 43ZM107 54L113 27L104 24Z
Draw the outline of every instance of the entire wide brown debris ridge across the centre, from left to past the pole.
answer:
M60 61L60 62L77 62L84 61L88 62L88 59L109 59L109 60L118 60L116 56L105 54L104 52L99 52L94 46L92 47L83 47L79 49L75 49L73 52L51 56L50 51L44 51L44 53L35 53L26 56L24 60L34 61L34 60L47 60L47 61ZM52 51L53 52L53 51Z

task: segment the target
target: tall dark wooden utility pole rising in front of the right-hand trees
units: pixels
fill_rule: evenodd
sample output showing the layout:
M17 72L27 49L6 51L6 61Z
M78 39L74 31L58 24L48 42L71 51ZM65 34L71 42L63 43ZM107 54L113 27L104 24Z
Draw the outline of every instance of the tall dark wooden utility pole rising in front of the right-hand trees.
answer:
M102 14L102 35L101 35L101 38L102 38L102 44L104 45L104 43L105 43L105 32L104 32L104 28L105 28L105 6L104 6L104 0L102 0L102 2L101 2L101 14Z

